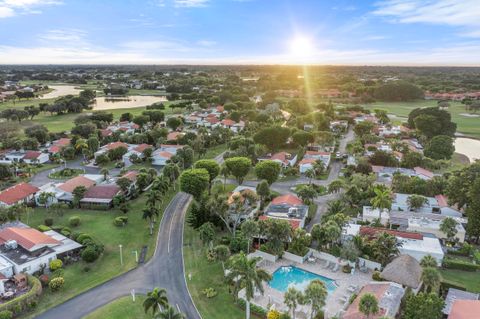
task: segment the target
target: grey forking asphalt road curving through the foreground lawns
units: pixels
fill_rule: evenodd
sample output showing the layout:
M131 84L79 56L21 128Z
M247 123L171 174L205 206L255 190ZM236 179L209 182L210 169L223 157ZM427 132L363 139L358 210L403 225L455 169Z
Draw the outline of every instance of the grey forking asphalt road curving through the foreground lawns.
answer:
M92 288L36 318L82 318L95 309L126 295L132 289L146 293L154 287L165 288L168 300L188 319L201 319L191 297L184 276L183 225L192 197L179 192L165 209L152 259L123 275Z

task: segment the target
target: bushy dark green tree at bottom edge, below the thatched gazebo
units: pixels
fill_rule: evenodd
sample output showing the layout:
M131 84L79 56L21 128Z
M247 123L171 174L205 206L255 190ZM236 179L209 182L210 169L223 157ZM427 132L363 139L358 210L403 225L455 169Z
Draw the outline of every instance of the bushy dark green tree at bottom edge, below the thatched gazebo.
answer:
M410 294L406 298L402 319L441 319L445 302L434 293Z

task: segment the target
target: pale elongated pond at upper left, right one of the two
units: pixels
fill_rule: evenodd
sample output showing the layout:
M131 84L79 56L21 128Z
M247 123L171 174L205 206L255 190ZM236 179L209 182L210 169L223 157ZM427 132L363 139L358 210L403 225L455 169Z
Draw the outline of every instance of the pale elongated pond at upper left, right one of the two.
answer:
M151 95L131 95L125 97L97 97L93 109L111 110L111 109L127 109L133 107L143 107L157 102L166 102L165 96Z

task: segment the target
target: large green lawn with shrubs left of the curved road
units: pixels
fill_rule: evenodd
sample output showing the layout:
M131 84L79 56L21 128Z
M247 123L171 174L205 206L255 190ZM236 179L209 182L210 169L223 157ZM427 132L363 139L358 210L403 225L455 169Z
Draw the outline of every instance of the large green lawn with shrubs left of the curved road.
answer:
M162 212L175 193L175 191L171 190L164 198ZM153 255L156 235L149 235L148 223L142 219L142 208L145 205L145 200L145 196L141 196L131 201L131 209L128 212L128 224L123 228L113 225L114 217L122 215L116 209L108 211L73 209L66 210L62 216L56 216L45 209L38 208L23 218L24 222L27 222L32 227L36 227L44 223L45 217L53 217L55 225L68 225L68 219L71 216L79 216L81 225L72 230L89 233L105 245L104 254L94 263L87 264L80 261L68 265L65 268L65 286L63 290L58 293L51 293L48 289L44 290L35 313L29 314L29 318L33 318L34 315L41 311L58 305L83 291L136 267L134 250L140 253L142 246L147 245L147 259ZM158 224L159 222L155 225L154 234L158 232ZM123 266L120 265L119 244L123 245ZM85 267L89 268L88 272L85 271Z

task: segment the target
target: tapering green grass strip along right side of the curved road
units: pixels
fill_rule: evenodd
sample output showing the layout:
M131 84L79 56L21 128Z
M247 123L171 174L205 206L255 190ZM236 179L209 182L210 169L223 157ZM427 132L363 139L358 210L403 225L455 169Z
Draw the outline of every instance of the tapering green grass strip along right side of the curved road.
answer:
M228 286L224 283L223 270L220 262L208 262L205 249L198 233L185 225L183 236L183 257L185 259L185 274L191 274L187 280L188 289L198 311L205 319L243 319L245 313L233 302ZM208 299L202 290L212 287L218 295Z

